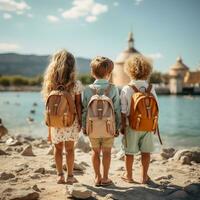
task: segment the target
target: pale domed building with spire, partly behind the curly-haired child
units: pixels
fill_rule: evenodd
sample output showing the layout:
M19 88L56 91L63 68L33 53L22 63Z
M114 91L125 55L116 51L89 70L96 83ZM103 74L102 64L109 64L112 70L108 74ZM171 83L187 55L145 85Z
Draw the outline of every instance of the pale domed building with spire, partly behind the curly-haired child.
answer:
M124 63L133 54L140 53L134 48L133 33L128 36L128 48L122 51L116 58L112 73L112 82L117 86L124 86L130 82L130 78L124 72Z

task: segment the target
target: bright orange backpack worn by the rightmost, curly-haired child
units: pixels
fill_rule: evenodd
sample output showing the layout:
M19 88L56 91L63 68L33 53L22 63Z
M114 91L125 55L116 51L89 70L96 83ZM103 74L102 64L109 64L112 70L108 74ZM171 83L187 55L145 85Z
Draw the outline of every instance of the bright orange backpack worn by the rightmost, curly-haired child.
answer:
M152 85L149 84L145 92L141 92L134 85L129 86L134 90L129 114L130 127L136 131L157 131L162 144L158 129L159 109L156 98L151 93Z

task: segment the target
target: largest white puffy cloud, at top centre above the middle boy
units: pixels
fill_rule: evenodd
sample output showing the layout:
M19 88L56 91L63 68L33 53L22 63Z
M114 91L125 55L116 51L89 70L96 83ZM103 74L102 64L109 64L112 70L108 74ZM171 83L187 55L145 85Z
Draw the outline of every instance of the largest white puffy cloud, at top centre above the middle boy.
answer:
M95 0L73 0L72 7L62 13L65 19L84 18L87 22L94 22L97 16L108 11L106 4L96 3Z

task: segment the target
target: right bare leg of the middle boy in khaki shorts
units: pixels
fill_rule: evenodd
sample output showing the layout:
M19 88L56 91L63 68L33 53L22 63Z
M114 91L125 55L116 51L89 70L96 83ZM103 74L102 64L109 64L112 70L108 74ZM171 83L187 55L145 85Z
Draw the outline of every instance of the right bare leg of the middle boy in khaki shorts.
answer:
M111 148L102 148L103 152L103 179L102 182L108 182L108 172L110 169L110 161L111 161Z

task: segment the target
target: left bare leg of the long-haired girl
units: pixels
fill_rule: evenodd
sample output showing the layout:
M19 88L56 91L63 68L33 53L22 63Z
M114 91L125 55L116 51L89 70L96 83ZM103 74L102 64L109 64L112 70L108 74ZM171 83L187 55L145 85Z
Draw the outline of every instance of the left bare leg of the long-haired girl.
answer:
M59 175L59 180L57 183L63 183L64 182L64 174L63 174L63 166L62 166L62 153L63 153L63 142L60 142L58 144L55 144L55 150L54 150L54 159L56 163L56 169Z

